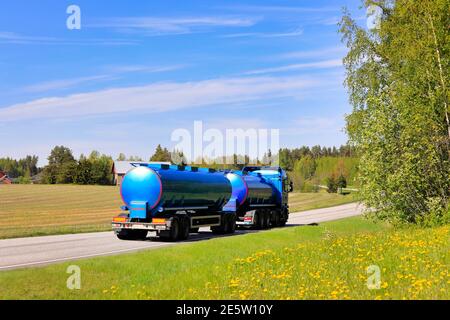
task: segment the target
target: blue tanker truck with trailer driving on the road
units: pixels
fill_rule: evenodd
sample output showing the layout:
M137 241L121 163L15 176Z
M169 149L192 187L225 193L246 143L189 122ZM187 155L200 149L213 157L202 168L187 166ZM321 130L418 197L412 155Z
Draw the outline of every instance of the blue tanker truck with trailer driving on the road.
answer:
M122 240L139 240L148 231L168 241L185 240L200 227L216 234L236 227L284 226L292 191L280 167L214 170L167 164L133 164L122 180L123 213L112 228Z

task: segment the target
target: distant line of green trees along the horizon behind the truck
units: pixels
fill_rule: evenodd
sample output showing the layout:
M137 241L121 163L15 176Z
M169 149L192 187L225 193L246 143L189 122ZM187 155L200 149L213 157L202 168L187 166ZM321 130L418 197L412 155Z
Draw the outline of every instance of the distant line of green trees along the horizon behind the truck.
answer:
M183 153L178 152L181 164ZM237 164L238 155L234 157L234 164L200 164L216 169L240 170L245 164ZM264 157L272 157L269 150ZM241 157L245 163L260 163L248 157ZM113 183L111 168L113 157L92 151L89 156L81 155L76 159L72 150L65 146L56 146L50 152L48 164L43 168L37 167L38 157L27 156L24 159L14 160L0 158L0 170L6 171L11 178L16 178L19 183L47 183L47 184L98 184L110 185ZM143 161L138 156L127 157L121 153L116 160ZM262 159L265 163L266 159ZM149 161L171 162L172 155L167 148L161 145L156 147ZM355 176L358 159L354 150L349 146L336 147L307 147L295 149L280 149L279 164L289 172L294 182L294 188L300 191L317 191L319 185L326 185L330 178L345 179L351 185L355 185Z

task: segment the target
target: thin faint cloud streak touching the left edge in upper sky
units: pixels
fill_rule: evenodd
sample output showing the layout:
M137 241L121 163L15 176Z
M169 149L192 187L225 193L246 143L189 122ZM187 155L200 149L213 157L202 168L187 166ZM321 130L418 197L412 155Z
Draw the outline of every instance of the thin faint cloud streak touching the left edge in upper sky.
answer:
M0 31L0 44L17 44L17 45L135 45L138 40L133 39L108 39L108 38L91 38L91 39L64 39L56 37L29 36L15 32Z

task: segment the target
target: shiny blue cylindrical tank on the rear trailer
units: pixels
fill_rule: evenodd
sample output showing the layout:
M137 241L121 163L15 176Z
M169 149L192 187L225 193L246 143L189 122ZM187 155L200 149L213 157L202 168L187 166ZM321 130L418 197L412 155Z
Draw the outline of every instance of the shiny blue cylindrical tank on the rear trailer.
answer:
M140 166L130 170L121 185L123 202L145 201L152 213L158 209L220 210L232 195L224 173L178 166Z

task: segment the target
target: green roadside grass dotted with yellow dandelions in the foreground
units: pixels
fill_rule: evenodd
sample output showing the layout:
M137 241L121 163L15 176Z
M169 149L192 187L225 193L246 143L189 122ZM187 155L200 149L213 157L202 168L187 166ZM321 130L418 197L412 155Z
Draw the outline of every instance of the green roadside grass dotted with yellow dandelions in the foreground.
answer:
M1 299L449 299L450 228L363 218L0 272ZM67 267L81 289L66 288ZM381 270L381 289L366 269Z

